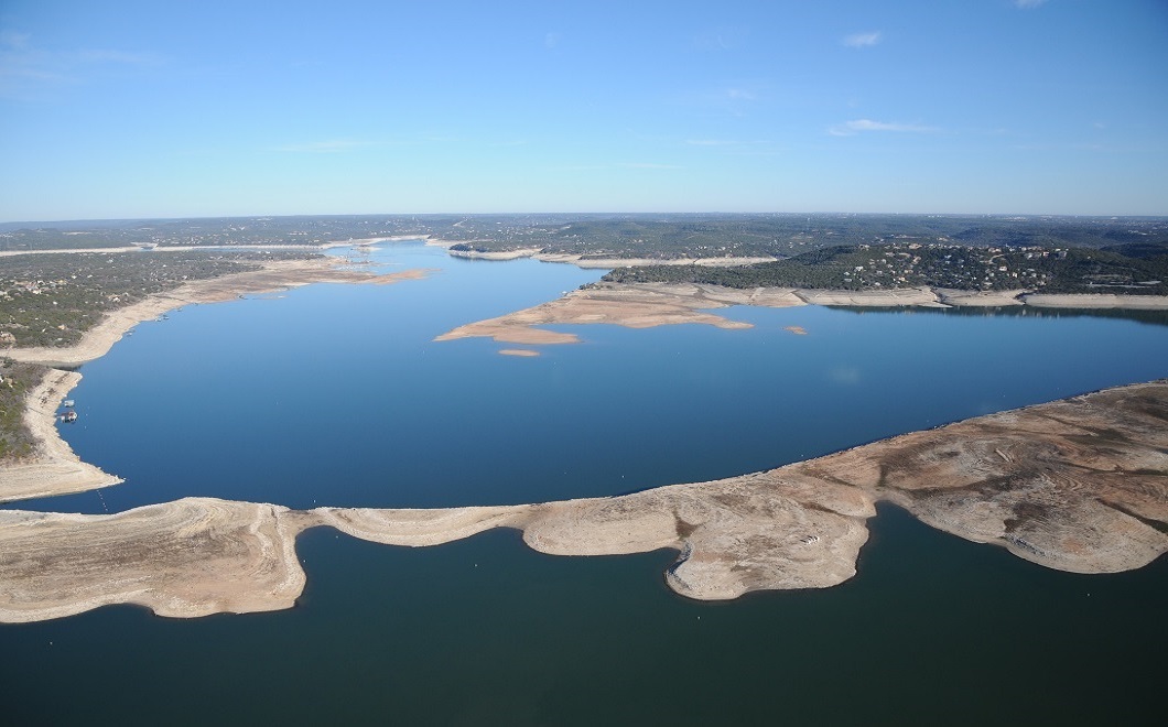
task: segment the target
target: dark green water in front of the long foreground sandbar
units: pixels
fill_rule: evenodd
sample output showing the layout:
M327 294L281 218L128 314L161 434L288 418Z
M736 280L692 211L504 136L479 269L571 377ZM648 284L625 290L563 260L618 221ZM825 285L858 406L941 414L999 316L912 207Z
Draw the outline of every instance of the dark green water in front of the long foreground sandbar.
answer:
M674 553L557 558L301 537L288 611L127 607L0 627L12 723L1139 723L1159 714L1164 559L1072 575L896 508L856 578L682 599ZM51 645L50 645L51 642Z

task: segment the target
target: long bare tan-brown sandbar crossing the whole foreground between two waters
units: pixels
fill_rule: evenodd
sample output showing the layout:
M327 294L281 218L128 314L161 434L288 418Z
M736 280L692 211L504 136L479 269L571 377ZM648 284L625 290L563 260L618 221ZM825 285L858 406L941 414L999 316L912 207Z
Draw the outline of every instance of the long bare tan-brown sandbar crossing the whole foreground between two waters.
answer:
M0 622L106 603L176 617L288 608L305 583L296 538L317 526L409 547L512 527L549 554L672 548L666 583L700 600L827 588L855 574L880 501L1049 568L1128 571L1168 552L1166 419L1160 380L614 497L436 510L211 498L112 516L0 510Z

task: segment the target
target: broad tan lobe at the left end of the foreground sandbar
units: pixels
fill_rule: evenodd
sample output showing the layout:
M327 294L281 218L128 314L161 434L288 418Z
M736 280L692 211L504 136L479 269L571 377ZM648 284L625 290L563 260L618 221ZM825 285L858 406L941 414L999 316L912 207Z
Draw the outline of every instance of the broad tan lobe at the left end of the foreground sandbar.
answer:
M304 590L301 527L286 508L207 498L119 515L0 510L0 621L106 603L175 617L290 608Z

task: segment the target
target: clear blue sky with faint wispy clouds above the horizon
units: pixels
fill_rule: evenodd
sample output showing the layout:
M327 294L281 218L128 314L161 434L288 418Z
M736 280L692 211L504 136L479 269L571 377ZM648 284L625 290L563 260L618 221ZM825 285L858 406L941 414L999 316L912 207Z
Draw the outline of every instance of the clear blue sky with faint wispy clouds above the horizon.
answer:
M1168 215L1168 2L0 0L0 221Z

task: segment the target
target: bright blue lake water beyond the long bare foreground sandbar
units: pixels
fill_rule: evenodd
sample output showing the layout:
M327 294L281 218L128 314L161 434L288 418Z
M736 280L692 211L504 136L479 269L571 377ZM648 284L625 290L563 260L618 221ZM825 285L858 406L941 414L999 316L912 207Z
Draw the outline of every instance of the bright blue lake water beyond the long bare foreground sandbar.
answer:
M584 342L499 356L515 347L432 340L600 273L451 259L420 244L368 258L436 272L188 307L139 326L82 368L81 417L62 429L84 460L126 483L21 506L102 512L206 495L420 508L612 495L1168 376L1166 326L820 307L722 312L750 330L561 327Z

